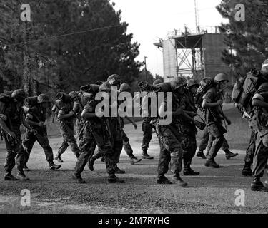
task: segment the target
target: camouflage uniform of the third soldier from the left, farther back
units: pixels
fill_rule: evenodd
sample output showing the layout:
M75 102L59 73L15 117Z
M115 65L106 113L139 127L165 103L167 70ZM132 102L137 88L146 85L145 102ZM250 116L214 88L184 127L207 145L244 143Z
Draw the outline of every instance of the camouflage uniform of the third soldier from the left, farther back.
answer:
M66 115L69 114L71 109L69 108L61 108L59 114ZM57 157L61 157L61 155L67 150L70 146L71 151L74 152L76 157L79 157L80 150L77 145L76 139L74 138L74 117L69 118L58 118L59 120L59 128L61 131L61 135L64 138L64 142L62 142L61 147L59 148Z

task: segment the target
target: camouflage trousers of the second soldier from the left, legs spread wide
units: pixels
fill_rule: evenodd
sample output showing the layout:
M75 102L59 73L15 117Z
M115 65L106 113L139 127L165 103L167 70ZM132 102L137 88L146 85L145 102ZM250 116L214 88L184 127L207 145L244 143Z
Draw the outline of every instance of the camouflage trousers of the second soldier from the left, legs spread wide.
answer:
M51 146L49 145L49 138L47 137L46 128L43 128L42 130L37 130L37 134L34 135L34 133L31 133L29 130L26 131L26 135L23 140L23 145L25 148L25 164L27 164L31 150L33 149L34 143L38 142L39 145L44 150L44 153L46 155L46 160L49 162L49 165L54 164L53 163L53 151Z

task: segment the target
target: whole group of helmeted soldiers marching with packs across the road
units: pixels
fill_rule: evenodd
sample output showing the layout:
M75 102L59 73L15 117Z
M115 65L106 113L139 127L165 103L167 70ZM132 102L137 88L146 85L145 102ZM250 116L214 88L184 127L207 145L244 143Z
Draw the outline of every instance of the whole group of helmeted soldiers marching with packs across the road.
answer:
M242 175L253 177L251 189L254 191L268 191L267 186L263 185L260 180L264 175L268 157L268 113L266 115L268 77L265 78L266 70L268 75L267 61L264 62L262 71L252 71L245 78L237 80L232 95L236 107L243 115L247 113L252 129ZM151 97L152 95L157 97L159 92L172 93L172 100L169 100L169 96L166 95L163 100L154 100L157 104L152 104L152 100L147 99L147 105L157 106L157 115L150 115L149 108L149 113L143 117L142 122L142 159L154 159L147 153L153 130L159 139L158 184L177 184L180 187L186 187L187 182L184 182L180 175L182 168L184 176L199 175L199 172L192 170L191 167L197 150L197 128L203 131L197 157L206 160L204 164L206 167L220 167L215 157L221 148L227 159L237 156L229 151L229 145L224 138L224 134L227 133L226 125L231 125L231 121L222 110L223 91L228 81L227 75L219 73L214 78L203 78L200 83L192 79L187 81L183 77L177 77L166 83L156 80L153 85L146 81L137 84L141 92L147 92ZM51 105L49 95L46 94L27 97L21 89L11 93L2 93L0 95L0 127L7 151L4 180L29 180L25 175L25 172L29 171L27 162L34 142L37 141L44 149L50 170L61 168L61 165L54 164L54 159L59 163L64 162L61 155L70 146L77 158L72 175L76 182L85 183L81 176L84 167L87 165L89 170L93 171L94 162L101 159L106 165L108 182L124 183L124 180L116 176L125 173L118 167L122 148L124 147L126 155L129 156L131 165L141 162L142 159L134 156L129 138L124 132L124 119L118 115L100 117L96 113L96 107L101 102L95 99L96 94L106 93L111 100L112 88L117 88L117 95L131 92L131 87L126 83L121 83L121 77L114 74L109 76L105 83L82 86L79 92L58 93L53 105ZM251 95L250 98L249 95ZM143 99L142 103L144 100L146 99ZM248 101L247 105L245 100ZM51 106L53 106L53 115L59 121L59 129L64 139L55 157L49 145L45 125ZM111 106L110 103L109 108ZM164 124L161 120L167 110L171 112L169 114L172 115L172 121ZM124 118L137 129L136 123L130 116ZM76 120L76 133L74 133L74 120ZM20 131L21 124L26 128L23 139ZM169 163L172 171L171 180L165 176L169 170ZM15 164L18 169L16 177L11 174Z

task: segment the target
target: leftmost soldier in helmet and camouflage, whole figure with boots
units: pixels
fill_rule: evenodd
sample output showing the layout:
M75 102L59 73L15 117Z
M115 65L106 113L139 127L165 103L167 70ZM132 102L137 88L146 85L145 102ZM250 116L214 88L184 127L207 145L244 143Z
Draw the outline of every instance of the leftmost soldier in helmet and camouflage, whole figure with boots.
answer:
M4 132L6 141L6 163L4 165L4 180L18 180L11 172L17 165L17 177L21 181L29 180L24 173L25 150L21 142L20 126L23 124L27 129L32 130L23 118L22 106L26 93L24 90L15 90L11 95L0 95L0 128Z

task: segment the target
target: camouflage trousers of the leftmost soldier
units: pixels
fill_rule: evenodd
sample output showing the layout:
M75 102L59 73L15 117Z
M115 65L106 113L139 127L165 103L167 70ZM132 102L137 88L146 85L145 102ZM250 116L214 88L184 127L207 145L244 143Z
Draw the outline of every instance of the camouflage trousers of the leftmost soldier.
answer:
M21 132L19 129L13 130L16 134L16 144L14 142L9 142L6 135L4 135L4 139L6 142L6 162L4 165L4 170L6 173L10 173L13 168L17 167L19 172L24 172L24 157L25 157L25 150L22 146L21 141Z

